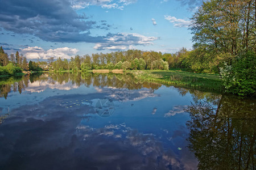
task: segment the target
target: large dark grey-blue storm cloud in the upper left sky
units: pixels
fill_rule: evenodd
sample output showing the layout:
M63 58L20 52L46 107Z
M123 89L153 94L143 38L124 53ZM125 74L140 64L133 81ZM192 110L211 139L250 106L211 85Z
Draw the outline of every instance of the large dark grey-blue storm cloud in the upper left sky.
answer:
M14 33L29 33L53 42L102 42L90 36L96 22L78 15L68 0L0 0L0 26ZM105 28L102 28L105 29Z

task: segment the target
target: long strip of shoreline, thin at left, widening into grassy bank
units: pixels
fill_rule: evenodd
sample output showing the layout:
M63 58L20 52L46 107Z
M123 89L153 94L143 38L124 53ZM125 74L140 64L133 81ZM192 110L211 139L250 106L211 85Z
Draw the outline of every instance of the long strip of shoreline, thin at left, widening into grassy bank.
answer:
M150 82L158 82L162 84L168 84L171 86L188 87L196 90L207 90L224 92L221 80L217 74L205 74L205 73L191 73L180 70L87 70L72 72L69 70L64 71L26 71L26 73L18 73L15 75L1 75L0 78L7 78L11 76L22 76L26 74L36 73L114 73L114 74L132 74L134 78L140 80L146 80Z

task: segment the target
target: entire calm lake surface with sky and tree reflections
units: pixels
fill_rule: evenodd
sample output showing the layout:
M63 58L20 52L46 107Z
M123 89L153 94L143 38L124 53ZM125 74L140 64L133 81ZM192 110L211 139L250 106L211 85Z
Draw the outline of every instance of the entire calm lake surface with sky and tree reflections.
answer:
M253 169L255 99L130 75L0 80L0 169Z

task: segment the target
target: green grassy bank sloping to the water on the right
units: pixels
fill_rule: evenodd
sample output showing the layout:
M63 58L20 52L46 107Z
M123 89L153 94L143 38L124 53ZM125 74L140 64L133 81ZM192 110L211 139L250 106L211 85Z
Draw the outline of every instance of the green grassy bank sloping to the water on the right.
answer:
M218 92L223 90L220 77L217 74L199 74L174 70L130 70L127 73L133 74L137 79L174 86Z

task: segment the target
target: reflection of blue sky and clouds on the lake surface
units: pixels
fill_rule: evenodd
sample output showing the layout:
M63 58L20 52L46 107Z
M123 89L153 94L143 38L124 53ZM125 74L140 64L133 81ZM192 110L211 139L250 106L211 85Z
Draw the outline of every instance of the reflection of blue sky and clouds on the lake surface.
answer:
M1 98L1 114L11 110L0 125L0 169L196 169L185 140L190 94L103 79L79 85L49 75Z

